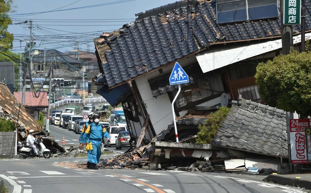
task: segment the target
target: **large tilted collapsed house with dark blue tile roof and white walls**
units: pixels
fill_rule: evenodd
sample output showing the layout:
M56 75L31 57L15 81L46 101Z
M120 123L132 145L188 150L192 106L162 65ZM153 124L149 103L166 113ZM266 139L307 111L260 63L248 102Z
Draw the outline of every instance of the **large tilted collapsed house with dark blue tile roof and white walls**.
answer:
M132 23L94 39L100 69L93 78L100 88L97 94L112 106L122 103L128 128L139 139L137 148L173 120L171 103L178 89L169 85L168 77L176 61L190 80L182 85L174 104L174 113L181 119L215 111L223 93L229 103L240 94L262 101L254 77L256 66L282 53L277 3L254 3L254 10L271 10L247 22L228 21L233 17L218 13L216 6L217 2L209 0L179 1L138 13ZM306 17L311 18L311 7L305 6ZM222 13L233 12L227 7ZM307 39L310 30L306 19ZM293 25L296 50L299 33L299 25Z

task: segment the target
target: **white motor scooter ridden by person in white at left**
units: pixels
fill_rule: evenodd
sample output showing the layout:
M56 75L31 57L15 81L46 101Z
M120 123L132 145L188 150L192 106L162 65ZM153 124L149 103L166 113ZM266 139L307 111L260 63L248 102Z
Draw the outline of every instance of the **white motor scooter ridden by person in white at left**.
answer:
M36 139L34 141L34 144L39 147L37 148L39 156L43 156L47 159L51 157L51 152L49 149L46 149L45 145L42 143L42 139ZM18 142L18 146L21 147L18 154L23 156L24 159L26 159L27 157L37 157L35 151L31 147L26 146L26 142Z

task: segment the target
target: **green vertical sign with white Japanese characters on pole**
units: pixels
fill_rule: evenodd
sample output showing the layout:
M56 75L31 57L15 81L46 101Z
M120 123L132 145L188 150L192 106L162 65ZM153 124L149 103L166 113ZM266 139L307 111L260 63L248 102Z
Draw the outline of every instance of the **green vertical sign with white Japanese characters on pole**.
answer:
M285 25L301 23L301 0L284 0L283 23Z

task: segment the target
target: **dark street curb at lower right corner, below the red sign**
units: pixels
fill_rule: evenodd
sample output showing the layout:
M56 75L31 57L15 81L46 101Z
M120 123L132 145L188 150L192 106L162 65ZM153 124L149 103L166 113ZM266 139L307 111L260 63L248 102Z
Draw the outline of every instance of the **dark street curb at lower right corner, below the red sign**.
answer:
M274 182L274 183L281 184L281 185L296 186L296 187L306 188L306 189L311 190L310 180L305 180L303 178L291 178L291 177L287 177L286 175L281 175L281 174L270 174L262 181Z

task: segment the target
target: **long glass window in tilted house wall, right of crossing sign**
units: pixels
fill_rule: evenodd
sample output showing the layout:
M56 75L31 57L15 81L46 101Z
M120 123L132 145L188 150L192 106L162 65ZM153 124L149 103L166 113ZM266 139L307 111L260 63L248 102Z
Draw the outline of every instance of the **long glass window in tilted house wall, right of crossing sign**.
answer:
M221 76L211 77L206 80L198 81L190 86L182 87L176 100L178 108L194 103L198 100L207 98L208 96L222 93L224 86ZM173 96L177 94L177 89L173 91Z

